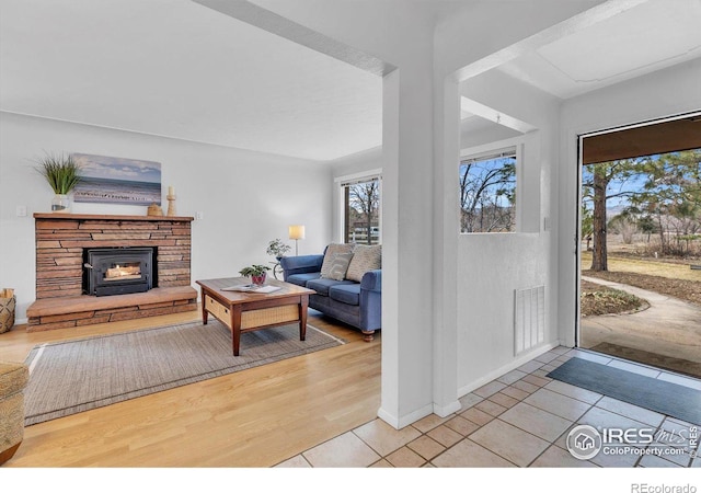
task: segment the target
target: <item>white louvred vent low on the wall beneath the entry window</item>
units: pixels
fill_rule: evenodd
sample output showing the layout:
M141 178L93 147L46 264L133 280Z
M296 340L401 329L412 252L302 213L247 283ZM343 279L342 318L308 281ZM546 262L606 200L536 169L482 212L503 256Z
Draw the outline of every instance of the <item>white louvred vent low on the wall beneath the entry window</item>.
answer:
M514 354L545 341L545 286L514 291Z

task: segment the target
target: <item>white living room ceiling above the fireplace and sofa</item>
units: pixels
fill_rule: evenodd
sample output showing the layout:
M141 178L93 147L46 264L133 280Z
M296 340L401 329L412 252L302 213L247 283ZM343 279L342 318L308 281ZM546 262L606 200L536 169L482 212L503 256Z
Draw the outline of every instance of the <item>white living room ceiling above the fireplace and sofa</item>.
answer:
M2 0L0 108L302 159L381 145L382 80L188 0Z

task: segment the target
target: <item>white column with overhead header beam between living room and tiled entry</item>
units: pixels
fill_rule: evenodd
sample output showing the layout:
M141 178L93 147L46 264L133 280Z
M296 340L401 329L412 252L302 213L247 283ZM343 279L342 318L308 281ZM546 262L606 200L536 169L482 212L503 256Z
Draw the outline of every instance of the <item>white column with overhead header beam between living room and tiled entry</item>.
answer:
M375 56L382 117L382 398L401 427L433 412L433 24L401 0L255 0Z

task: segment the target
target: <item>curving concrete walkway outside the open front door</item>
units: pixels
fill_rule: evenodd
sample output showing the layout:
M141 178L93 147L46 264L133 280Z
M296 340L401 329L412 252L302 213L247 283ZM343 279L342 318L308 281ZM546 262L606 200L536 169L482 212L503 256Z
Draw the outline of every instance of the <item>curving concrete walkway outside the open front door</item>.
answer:
M645 299L650 308L630 314L586 317L581 321L581 346L607 342L664 357L701 363L701 308L669 296L594 277L582 277Z

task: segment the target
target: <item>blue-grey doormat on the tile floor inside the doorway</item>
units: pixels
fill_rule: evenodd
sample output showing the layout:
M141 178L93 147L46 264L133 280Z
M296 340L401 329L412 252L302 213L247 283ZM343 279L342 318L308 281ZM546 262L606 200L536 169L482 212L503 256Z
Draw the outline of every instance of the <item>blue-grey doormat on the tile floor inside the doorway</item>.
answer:
M651 411L701 424L701 391L611 366L571 358L548 377L639 405Z

